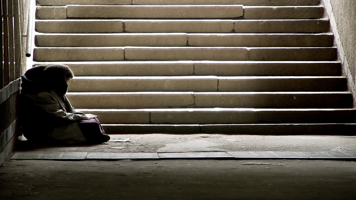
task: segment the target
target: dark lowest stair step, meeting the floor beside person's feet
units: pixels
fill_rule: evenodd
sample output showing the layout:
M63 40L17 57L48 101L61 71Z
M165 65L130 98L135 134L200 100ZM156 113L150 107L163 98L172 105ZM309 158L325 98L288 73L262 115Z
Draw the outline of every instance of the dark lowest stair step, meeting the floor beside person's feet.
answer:
M355 135L356 123L102 124L106 133L231 133L256 135Z

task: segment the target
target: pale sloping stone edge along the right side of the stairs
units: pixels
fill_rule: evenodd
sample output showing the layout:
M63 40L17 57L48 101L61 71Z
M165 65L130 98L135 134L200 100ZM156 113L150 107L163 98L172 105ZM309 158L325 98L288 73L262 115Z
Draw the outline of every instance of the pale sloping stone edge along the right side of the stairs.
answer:
M341 43L341 38L340 38L339 32L337 31L336 20L335 20L334 14L333 14L333 9L331 7L331 3L329 0L322 0L322 2L324 3L324 7L325 7L325 11L326 11L327 15L329 16L329 20L330 20L329 23L331 26L331 31L334 33L334 37L335 37L334 40L335 40L335 43L337 46L337 53L339 54L338 57L341 60L341 64L343 67L343 73L344 73L345 77L347 78L347 85L349 87L349 90L351 90L351 93L352 93L352 96L354 99L354 107L356 107L356 82L354 82L354 80L352 80L352 75L351 75L351 72L349 69L349 64L347 63L344 48L342 47L342 43Z

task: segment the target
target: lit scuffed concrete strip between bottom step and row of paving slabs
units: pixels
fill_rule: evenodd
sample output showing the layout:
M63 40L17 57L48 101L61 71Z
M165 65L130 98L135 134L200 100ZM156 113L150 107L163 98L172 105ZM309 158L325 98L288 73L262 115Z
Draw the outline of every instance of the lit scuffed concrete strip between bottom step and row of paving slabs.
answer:
M356 136L261 136L223 134L125 134L131 142L87 146L18 145L18 151L186 152L186 151L356 151Z

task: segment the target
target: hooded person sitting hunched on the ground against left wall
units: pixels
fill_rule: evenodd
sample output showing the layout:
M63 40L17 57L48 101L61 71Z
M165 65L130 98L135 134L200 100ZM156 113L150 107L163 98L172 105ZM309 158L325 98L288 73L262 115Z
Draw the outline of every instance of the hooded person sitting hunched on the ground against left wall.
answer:
M70 105L67 82L74 77L62 64L44 64L21 76L19 118L23 136L48 144L103 143L110 140L98 119Z

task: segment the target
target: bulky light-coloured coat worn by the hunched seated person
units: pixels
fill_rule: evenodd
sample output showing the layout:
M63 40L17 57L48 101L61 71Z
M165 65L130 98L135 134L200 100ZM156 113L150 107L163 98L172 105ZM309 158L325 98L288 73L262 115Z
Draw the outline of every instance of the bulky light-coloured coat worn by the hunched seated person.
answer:
M23 135L28 140L55 141L64 144L84 142L85 137L76 121L83 120L82 112L65 103L51 90L36 95L21 94L20 117ZM21 114L22 113L22 114Z

